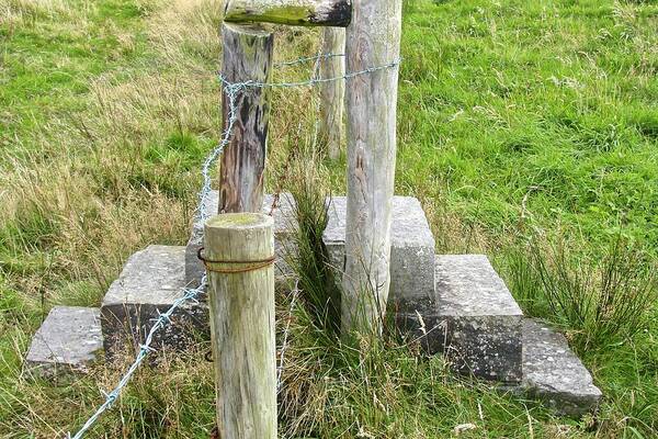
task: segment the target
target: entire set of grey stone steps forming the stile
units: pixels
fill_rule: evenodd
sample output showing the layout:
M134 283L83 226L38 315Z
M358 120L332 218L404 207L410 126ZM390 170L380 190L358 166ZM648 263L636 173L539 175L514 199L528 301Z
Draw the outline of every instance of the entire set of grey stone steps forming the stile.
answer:
M344 196L330 201L322 237L339 272L344 264L345 205ZM207 209L211 214L216 212L216 192ZM294 200L290 194L266 196L263 212L275 221L276 271L290 277L286 261L294 252ZM203 266L196 252L202 233L203 225L197 222L186 247L150 246L133 255L100 311L54 308L33 339L27 369L46 374L83 371L101 342L111 359L126 351L134 353L159 313L167 311L184 288L198 284ZM564 337L523 319L485 256L434 255L434 238L417 199L394 198L390 255L387 307L399 327L419 339L429 353L443 353L460 372L546 399L563 414L579 415L595 406L601 393ZM203 301L188 303L173 315L172 324L158 333L154 347L185 348L207 337L207 328Z

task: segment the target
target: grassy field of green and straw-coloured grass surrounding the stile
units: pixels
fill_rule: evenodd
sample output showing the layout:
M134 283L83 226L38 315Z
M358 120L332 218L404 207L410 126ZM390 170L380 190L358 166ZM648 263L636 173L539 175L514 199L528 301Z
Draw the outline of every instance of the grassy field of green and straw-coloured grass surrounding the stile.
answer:
M53 305L98 306L132 252L185 243L219 137L219 5L0 0L1 437L64 437L121 375L99 364L52 385L21 362ZM658 4L410 0L402 32L396 192L421 200L439 252L488 254L605 397L597 414L556 418L412 346L337 346L298 306L281 435L436 438L469 423L461 437L656 437ZM277 30L275 56L317 45L316 31ZM292 184L284 164L317 115L313 90L273 99L270 190ZM344 161L318 167L344 192ZM611 266L628 281L605 289ZM556 296L593 306L556 308ZM642 309L622 318L624 303ZM208 437L206 349L140 371L90 437Z

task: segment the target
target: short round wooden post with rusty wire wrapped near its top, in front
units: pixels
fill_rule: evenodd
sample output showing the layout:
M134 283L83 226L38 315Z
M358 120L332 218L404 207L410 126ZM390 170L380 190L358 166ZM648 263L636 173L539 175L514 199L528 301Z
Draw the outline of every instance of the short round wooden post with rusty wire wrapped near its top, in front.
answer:
M273 219L234 213L205 223L217 425L222 439L276 438Z

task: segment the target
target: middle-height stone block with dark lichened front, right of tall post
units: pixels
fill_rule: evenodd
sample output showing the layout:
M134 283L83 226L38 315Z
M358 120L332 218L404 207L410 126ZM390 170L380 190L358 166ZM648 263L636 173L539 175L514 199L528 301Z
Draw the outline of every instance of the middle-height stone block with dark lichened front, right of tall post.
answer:
M400 313L400 325L421 337L430 353L487 380L522 379L522 312L484 255L435 257L435 306ZM422 328L421 328L422 327Z

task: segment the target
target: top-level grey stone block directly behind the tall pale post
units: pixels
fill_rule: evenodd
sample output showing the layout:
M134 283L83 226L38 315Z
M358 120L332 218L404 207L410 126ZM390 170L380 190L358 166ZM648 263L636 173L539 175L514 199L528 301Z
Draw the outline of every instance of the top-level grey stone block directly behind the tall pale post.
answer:
M344 269L347 198L333 196L322 240L330 263ZM388 309L412 313L434 296L434 237L418 199L394 196Z

